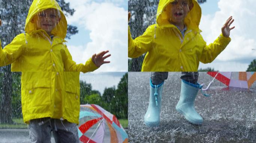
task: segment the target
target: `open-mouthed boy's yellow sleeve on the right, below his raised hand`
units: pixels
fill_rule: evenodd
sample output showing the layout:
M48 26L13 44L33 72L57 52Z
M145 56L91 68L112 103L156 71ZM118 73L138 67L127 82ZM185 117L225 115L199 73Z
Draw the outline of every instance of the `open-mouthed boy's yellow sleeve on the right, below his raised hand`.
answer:
M227 47L230 41L230 37L225 37L222 34L209 45L206 45L204 41L205 47L202 50L200 61L204 64L211 63Z

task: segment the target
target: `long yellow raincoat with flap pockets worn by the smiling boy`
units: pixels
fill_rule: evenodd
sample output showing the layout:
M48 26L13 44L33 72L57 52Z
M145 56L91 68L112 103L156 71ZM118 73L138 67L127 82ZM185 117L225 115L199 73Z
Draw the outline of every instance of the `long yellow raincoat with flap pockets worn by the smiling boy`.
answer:
M36 29L31 20L36 13L54 8L61 20L52 30ZM79 72L94 71L98 67L91 58L76 64L65 45L67 21L55 0L34 0L25 24L26 34L19 34L0 49L0 66L12 63L12 71L22 71L21 103L25 123L36 118L51 117L79 123ZM78 72L63 72L78 71Z

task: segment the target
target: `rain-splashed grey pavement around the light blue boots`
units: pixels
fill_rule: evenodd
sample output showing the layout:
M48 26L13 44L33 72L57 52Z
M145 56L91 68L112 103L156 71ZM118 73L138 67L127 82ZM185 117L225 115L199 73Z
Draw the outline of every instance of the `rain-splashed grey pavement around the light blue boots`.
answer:
M180 96L181 73L169 72L162 91L160 125L150 128L143 124L149 104L150 74L128 73L129 142L256 142L256 82L250 89L227 88L215 79L207 90L211 97L198 92L195 109L204 122L202 125L192 125L175 110ZM206 72L200 72L198 83L208 85L212 79Z

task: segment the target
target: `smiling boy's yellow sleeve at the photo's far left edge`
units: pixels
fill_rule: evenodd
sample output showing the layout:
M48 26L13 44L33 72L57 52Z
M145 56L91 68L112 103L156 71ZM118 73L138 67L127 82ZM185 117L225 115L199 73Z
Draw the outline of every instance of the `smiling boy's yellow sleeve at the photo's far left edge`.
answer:
M19 34L4 49L0 48L0 66L6 66L17 60L22 54L24 44L24 34Z

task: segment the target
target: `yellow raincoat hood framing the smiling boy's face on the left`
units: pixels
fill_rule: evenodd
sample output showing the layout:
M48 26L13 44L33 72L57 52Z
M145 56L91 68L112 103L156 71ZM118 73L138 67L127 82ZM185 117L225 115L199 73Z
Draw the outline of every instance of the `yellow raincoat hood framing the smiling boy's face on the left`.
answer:
M32 23L31 20L38 12L41 12L46 9L56 9L58 13L61 15L61 20L57 24L57 26L52 30L52 34L64 39L67 34L67 20L65 18L65 15L63 14L63 11L61 10L61 7L55 0L33 1L28 11L28 16L25 23L25 32L30 34L31 32L38 30L35 26L36 23Z

